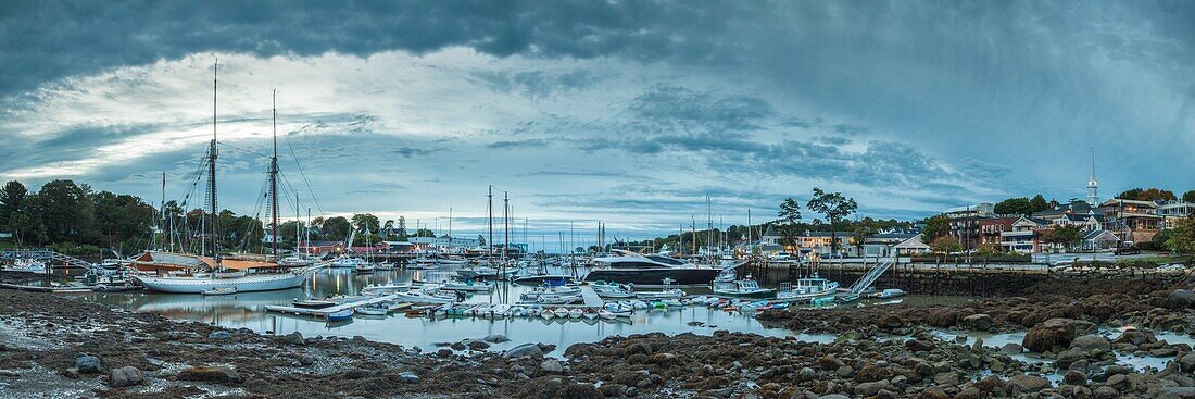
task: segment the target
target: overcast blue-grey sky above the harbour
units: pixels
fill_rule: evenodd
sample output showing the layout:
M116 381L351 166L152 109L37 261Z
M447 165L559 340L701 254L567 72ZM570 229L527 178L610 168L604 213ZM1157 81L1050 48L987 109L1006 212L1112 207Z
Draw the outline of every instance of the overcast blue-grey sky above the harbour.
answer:
M700 226L706 195L724 225L814 186L897 219L1065 201L1089 147L1104 197L1182 192L1193 20L1190 1L4 1L0 178L158 201L166 171L182 198L219 57L220 200L240 214L274 88L284 178L317 215L446 231L451 207L476 234L492 184L549 246L570 221Z

